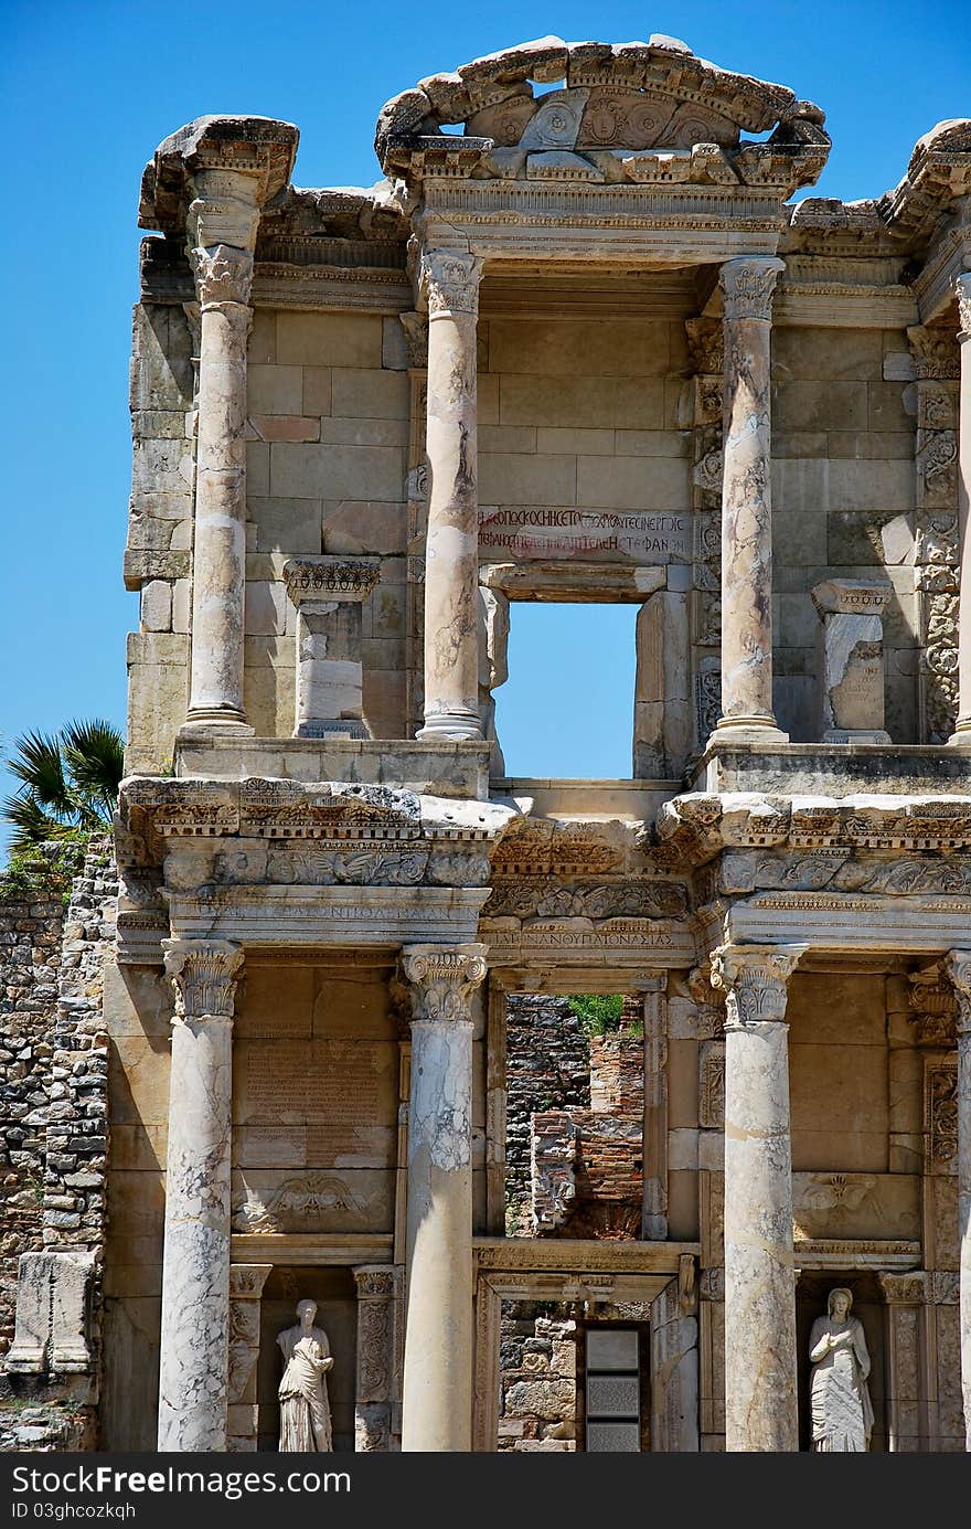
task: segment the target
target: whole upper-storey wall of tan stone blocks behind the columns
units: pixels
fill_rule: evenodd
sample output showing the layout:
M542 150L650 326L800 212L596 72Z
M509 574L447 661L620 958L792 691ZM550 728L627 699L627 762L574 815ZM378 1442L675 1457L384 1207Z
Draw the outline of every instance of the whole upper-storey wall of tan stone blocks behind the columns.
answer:
M550 526L550 511L601 517L598 538L624 515L677 520L677 550L645 607L632 696L636 771L677 774L708 734L717 679L705 677L717 670L711 601L719 583L717 511L705 506L717 503L720 456L696 428L690 313L674 304L667 317L505 317L489 312L491 303L486 275L480 555L544 560L569 578L570 561L584 558L580 531ZM188 694L193 353L180 307L136 309L125 576L141 589L141 628L128 641L128 763L139 771L170 766ZM294 729L295 610L281 573L287 557L301 553L381 558L381 581L362 607L364 714L376 737L411 731L421 691L424 474L408 469L422 456L424 388L408 359L405 330L391 315L255 310L245 703L258 735ZM774 326L775 706L795 742L821 734L820 618L810 590L826 576L890 586L885 725L895 742L919 740L913 375L902 329L815 329L784 318ZM699 498L699 482L706 497ZM625 560L602 549L596 558ZM408 575L419 581L411 593ZM699 670L694 700L691 664Z

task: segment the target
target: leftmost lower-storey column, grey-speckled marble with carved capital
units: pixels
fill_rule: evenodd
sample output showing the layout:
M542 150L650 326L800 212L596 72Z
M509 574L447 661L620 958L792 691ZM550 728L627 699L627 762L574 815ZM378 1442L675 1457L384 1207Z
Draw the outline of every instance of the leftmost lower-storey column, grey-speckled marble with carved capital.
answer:
M159 1449L226 1448L232 1001L243 953L164 940L176 989L168 1090Z

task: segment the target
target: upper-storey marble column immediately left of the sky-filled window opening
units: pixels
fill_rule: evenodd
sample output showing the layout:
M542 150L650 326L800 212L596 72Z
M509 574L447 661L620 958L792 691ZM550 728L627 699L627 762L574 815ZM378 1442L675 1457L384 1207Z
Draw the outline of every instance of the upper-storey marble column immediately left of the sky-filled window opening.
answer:
M425 725L419 739L482 739L476 321L482 260L422 257L428 298Z

